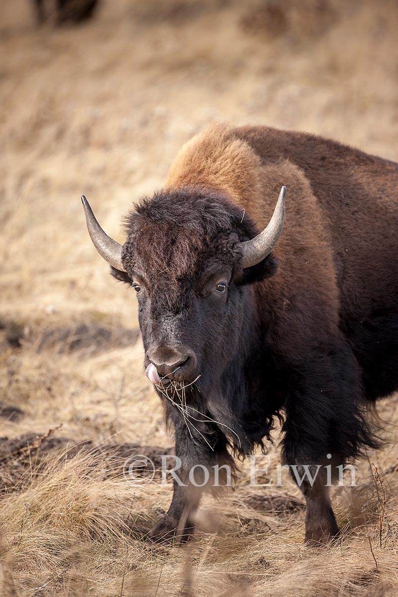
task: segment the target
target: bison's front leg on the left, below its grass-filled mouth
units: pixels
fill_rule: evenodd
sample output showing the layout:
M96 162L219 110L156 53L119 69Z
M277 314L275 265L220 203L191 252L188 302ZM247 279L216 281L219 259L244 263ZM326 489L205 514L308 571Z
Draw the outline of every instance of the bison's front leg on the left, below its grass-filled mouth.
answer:
M195 421L195 427L183 420L179 411L169 413L175 430L174 490L168 512L149 533L159 542L187 541L195 530L193 515L205 491L217 493L228 484L233 466L224 435L210 423ZM215 477L214 466L220 473ZM223 466L226 465L226 466Z

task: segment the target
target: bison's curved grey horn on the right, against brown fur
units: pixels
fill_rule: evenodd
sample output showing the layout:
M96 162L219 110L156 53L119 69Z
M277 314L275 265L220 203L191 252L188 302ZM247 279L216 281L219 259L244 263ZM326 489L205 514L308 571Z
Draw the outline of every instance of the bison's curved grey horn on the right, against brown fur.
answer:
M243 267L251 267L260 263L267 255L271 253L279 239L285 220L285 195L286 187L280 189L279 198L274 209L274 213L269 224L257 236L250 241L240 243L243 254Z

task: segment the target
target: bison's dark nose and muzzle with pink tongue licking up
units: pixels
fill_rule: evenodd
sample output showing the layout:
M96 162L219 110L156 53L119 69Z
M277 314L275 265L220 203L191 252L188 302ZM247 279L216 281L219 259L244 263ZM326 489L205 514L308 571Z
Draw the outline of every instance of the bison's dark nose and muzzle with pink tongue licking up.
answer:
M191 381L196 371L196 355L188 348L176 350L170 346L158 346L149 350L147 359L156 368L159 381L163 378L174 381ZM157 383L156 373L150 370L148 376L153 383Z

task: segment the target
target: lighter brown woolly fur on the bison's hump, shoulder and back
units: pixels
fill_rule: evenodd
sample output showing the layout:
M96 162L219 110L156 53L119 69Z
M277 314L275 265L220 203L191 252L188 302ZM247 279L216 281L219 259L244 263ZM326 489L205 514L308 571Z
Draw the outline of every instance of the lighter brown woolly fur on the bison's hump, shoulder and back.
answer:
M220 191L259 230L282 184L286 219L273 251L279 268L262 294L283 313L277 333L290 350L292 334L304 347L308 326L334 333L359 304L371 316L379 303L385 307L386 291L393 305L396 279L387 280L397 269L398 166L305 133L215 124L183 146L166 181ZM295 304L306 312L305 326Z

